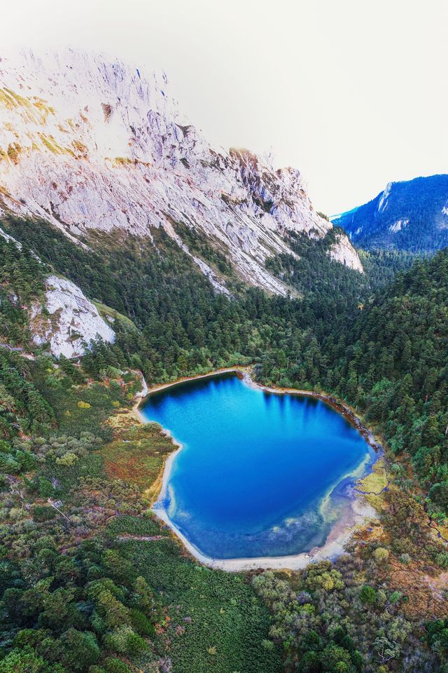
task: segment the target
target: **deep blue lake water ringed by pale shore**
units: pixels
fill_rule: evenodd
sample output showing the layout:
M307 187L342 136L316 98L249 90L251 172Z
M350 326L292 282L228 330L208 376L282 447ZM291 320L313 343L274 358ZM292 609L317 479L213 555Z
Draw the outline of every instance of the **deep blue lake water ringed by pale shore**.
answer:
M265 393L235 373L153 393L142 412L183 444L155 507L218 559L322 545L349 508L347 475L372 457L358 430L321 400Z

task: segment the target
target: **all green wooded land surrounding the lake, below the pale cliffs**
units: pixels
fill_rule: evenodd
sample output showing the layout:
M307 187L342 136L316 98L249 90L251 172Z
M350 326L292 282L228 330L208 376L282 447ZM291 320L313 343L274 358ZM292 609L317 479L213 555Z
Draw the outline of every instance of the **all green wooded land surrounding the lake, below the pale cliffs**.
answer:
M364 253L363 277L328 259L331 238L293 236L297 257L267 262L291 297L231 275L228 296L163 234L102 234L92 252L43 221L2 227L22 248L0 238L1 341L24 350L0 347L0 673L444 670L448 252L386 285L409 256ZM115 344L78 362L31 343L49 271L114 312ZM173 445L132 413L137 370L155 383L237 362L345 400L384 437L365 489L378 518L335 564L210 571L151 516Z

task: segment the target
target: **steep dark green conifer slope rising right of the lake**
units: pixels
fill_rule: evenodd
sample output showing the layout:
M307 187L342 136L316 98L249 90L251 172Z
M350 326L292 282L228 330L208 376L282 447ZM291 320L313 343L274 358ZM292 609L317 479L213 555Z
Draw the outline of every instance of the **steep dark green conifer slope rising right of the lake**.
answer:
M316 340L312 358L297 348L279 368L275 353L267 354L260 376L349 402L378 426L395 455L412 458L427 492L448 473L447 304L448 251L442 250L416 261L358 315ZM431 501L448 513L442 492L432 487Z

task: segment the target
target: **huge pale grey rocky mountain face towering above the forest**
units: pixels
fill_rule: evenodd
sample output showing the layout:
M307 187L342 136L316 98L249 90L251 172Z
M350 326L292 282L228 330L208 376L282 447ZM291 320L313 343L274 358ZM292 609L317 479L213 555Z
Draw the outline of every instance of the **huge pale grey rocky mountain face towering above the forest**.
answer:
M165 75L75 50L0 59L0 209L43 218L79 245L95 230L151 245L162 228L222 292L225 277L190 251L186 227L237 278L278 294L288 288L266 259L293 254L290 232L321 239L332 227L299 171L212 147L183 121ZM343 234L329 254L363 270Z

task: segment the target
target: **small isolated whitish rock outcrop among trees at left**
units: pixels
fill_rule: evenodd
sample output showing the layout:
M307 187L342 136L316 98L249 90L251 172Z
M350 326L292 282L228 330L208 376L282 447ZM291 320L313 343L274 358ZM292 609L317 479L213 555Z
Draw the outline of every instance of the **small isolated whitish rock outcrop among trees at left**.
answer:
M113 329L99 315L82 290L66 278L49 276L45 281L45 305L49 315L44 315L41 304L31 308L30 327L34 343L50 343L53 355L74 358L84 352L83 341L102 337L112 343Z

